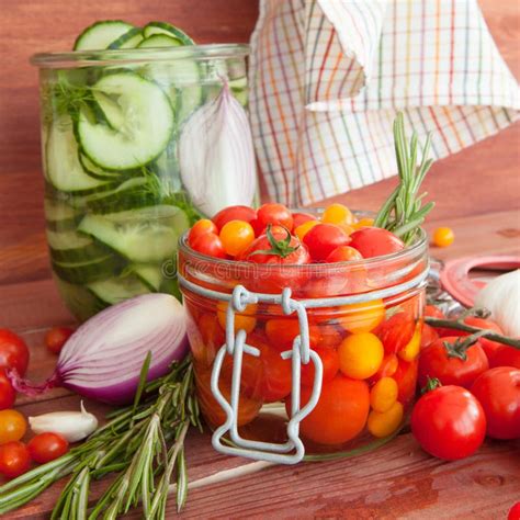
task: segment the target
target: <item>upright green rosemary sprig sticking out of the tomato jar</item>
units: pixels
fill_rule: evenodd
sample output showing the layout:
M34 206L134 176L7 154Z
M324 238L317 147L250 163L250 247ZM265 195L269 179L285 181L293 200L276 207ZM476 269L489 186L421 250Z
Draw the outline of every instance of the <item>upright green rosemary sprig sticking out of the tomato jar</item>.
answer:
M412 133L408 144L405 135L404 115L403 112L399 112L394 121L394 142L399 185L378 211L374 226L388 229L388 231L400 237L405 244L410 244L425 222L425 217L434 206L433 202L422 206L422 199L427 193L417 194L433 162L432 159L428 159L431 135L428 134L427 136L422 148L422 159L420 165L417 166L417 133Z

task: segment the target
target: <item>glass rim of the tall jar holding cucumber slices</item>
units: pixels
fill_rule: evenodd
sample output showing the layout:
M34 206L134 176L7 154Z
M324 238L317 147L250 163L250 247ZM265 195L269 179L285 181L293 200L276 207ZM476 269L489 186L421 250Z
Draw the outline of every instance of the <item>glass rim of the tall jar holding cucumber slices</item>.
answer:
M247 57L248 44L206 44L180 47L125 48L104 50L70 50L38 53L31 56L32 65L43 69L100 67L149 61L170 61L172 59L225 59Z

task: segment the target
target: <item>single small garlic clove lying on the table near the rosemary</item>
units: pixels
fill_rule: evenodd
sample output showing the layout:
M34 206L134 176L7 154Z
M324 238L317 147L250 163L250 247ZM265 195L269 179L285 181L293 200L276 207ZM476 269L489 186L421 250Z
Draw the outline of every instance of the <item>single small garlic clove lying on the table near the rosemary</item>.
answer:
M34 433L50 431L64 436L69 442L89 437L98 428L98 419L89 414L81 402L80 411L52 411L30 417L29 423Z

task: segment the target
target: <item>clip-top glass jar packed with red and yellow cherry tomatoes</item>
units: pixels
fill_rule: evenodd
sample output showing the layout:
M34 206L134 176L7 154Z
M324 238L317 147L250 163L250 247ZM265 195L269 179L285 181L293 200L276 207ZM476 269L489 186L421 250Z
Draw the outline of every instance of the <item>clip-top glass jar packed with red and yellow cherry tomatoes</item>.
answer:
M211 380L217 352L226 343L226 314L230 304L229 297L223 295L230 295L237 285L263 295L280 295L289 287L292 301L306 308L308 343L323 365L319 398L299 423L306 457L352 455L392 439L409 411L417 382L423 280L428 269L427 239L421 230L408 247L374 256L381 253L373 238L377 231L371 231L368 238L357 238L360 250L375 246L371 258L362 258L352 255L350 249L353 248L348 247L348 241L341 241L336 229L324 228L321 235L318 233L318 224L336 224L323 217L314 223L317 214L305 215L294 221L298 221L296 229L316 235L310 237L319 245L317 257L323 257L316 263L301 261L302 250L296 255L297 249L291 249L302 237L289 221L276 230L279 224L271 223L274 242L264 235L258 237L265 231L257 231L262 227L258 225L258 217L249 215L248 222L255 229L256 240L265 242L257 257L278 248L286 252L283 258L293 259L292 263L270 262L264 258L244 261L247 256L231 258L225 248L210 256L211 252L192 248L188 236L181 238L179 274L189 316L197 397L206 422L212 428L222 426L226 412L212 392ZM368 215L352 215L347 223L351 227L349 233L359 229L357 222L361 217L365 217L363 228L376 229L370 227L372 221ZM351 244L354 241L351 238ZM325 242L334 245L335 255L326 251ZM309 245L309 250L313 247L305 236L302 244ZM301 329L296 313L286 315L282 305L264 299L234 315L235 335L244 330L245 343L259 352L259 355L247 352L242 355L238 433L249 440L284 443L292 414L293 382L292 361L281 354L292 350ZM231 396L233 372L234 358L226 353L218 391L227 402ZM314 380L314 364L302 364L301 406L310 399Z

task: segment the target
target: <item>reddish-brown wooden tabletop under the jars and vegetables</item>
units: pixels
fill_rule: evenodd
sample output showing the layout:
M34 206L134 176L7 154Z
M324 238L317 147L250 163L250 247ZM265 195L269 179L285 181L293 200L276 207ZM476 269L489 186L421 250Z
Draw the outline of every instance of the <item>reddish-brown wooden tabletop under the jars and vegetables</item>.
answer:
M431 253L456 258L482 253L483 246L486 252L520 253L518 217L518 212L505 211L451 219L454 245ZM436 225L432 221L428 227ZM2 326L22 334L31 347L29 376L48 376L56 358L43 346L44 332L50 325L72 323L53 282L0 286L0 316ZM79 400L54 389L36 402L19 397L16 408L30 416L77 409ZM86 405L99 416L106 410ZM448 463L423 453L406 432L355 459L265 467L218 454L207 432L193 431L186 452L192 489L181 518L500 519L520 500L520 441L486 441L476 455ZM238 475L229 472L237 467ZM4 518L46 518L59 489L58 484ZM173 499L169 511L173 515ZM129 518L140 517L133 512Z

